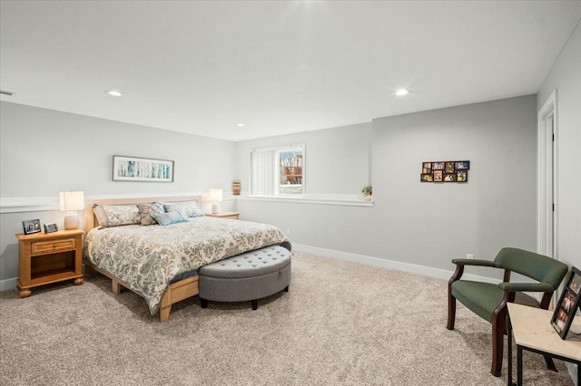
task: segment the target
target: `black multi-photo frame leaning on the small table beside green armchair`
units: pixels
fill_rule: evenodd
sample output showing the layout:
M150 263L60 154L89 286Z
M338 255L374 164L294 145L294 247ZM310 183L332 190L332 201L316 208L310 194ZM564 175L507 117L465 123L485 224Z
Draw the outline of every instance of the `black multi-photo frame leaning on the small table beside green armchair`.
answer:
M551 318L551 325L561 339L566 339L576 310L579 308L579 299L581 299L581 271L573 266L567 275L563 294L561 294L561 298L556 304L555 313Z

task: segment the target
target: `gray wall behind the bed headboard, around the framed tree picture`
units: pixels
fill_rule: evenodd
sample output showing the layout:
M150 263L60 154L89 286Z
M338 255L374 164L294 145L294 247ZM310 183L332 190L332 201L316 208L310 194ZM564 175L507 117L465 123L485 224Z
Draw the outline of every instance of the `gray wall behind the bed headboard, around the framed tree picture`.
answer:
M231 191L234 153L231 141L0 104L0 197L24 198L25 206L26 198L31 204L36 198L57 203L64 190L84 190L85 198ZM113 154L172 159L174 182L113 181ZM232 205L234 201L222 203L226 210ZM0 214L0 288L11 286L18 276L15 233L22 233L21 221L39 218L63 227L63 217L58 210Z

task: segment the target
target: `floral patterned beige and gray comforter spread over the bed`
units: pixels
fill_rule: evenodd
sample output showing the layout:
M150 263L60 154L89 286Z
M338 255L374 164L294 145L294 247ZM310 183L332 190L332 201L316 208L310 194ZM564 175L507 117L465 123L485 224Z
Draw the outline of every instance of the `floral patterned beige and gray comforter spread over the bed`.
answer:
M84 257L143 294L155 314L176 275L276 244L291 250L290 241L277 227L192 217L166 227L95 227L85 237Z

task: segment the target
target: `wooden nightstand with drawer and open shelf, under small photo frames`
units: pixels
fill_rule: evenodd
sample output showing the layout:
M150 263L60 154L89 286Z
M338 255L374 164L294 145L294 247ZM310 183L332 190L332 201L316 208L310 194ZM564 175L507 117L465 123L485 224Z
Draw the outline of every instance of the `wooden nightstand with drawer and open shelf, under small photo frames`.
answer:
M82 285L83 234L81 229L17 234L20 297L30 296L30 289L38 285L71 279Z

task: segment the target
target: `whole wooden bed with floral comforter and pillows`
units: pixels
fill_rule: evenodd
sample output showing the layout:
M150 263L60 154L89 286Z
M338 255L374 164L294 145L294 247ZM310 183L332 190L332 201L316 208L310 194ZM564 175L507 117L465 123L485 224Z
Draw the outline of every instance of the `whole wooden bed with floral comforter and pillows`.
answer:
M194 210L194 216L186 216L192 214L188 211L196 207L195 203L197 213ZM161 223L168 215L181 217L180 221L142 225L142 209L159 207L158 204L167 211L154 215ZM135 223L133 207L139 207L141 222ZM143 296L150 313L159 311L160 321L164 322L172 304L198 294L197 270L202 265L265 246L281 245L291 250L290 241L276 227L204 217L201 207L199 196L88 200L84 264L109 277L113 293L120 294L126 287ZM111 217L103 217L103 208L129 208L131 213L120 217L125 218L124 222L114 223Z

